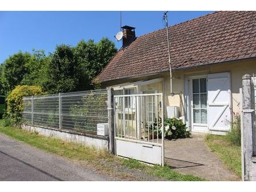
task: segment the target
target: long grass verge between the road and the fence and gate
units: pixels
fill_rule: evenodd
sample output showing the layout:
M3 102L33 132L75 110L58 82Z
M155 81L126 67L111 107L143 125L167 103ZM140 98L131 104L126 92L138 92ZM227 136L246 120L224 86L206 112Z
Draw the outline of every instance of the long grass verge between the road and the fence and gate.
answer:
M199 177L177 173L168 166L149 166L136 160L118 158L106 151L98 151L92 147L65 142L53 137L38 135L35 132L28 132L15 127L4 127L2 125L3 120L0 120L0 133L23 141L43 151L84 162L86 165L90 165L101 173L104 172L117 180L127 180L127 178L128 180L143 180L143 178L138 179L134 176L140 170L149 176L169 181L205 181Z

